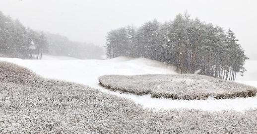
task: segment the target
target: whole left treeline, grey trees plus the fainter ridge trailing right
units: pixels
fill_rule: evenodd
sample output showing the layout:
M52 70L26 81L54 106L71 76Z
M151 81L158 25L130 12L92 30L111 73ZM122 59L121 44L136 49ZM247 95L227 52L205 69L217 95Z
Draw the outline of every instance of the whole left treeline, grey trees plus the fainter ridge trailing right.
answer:
M67 37L38 32L0 12L0 57L42 59L42 54L79 59L100 59L101 47L72 42Z

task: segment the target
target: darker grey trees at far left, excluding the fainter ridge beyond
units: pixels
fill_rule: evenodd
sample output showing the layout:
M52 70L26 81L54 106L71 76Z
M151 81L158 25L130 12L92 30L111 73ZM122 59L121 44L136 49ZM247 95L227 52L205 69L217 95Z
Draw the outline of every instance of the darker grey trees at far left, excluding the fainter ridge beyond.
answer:
M41 59L47 51L47 41L42 32L25 28L0 12L0 56Z

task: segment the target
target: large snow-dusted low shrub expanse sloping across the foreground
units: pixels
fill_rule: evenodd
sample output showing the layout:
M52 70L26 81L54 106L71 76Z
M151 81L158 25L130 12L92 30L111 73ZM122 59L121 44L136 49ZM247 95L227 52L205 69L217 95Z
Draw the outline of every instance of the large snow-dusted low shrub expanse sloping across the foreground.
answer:
M256 134L257 110L154 112L0 62L0 134ZM24 72L24 73L23 73Z

